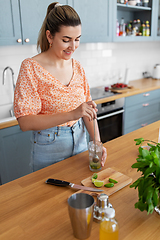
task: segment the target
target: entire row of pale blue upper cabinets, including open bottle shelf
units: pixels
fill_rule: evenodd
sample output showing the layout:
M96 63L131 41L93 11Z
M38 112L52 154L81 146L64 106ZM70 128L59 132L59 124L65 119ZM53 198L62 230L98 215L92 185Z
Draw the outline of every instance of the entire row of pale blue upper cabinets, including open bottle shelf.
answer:
M83 43L160 40L160 0L145 1L148 6L120 3L127 2L125 0L60 0L60 3L73 6L80 15ZM51 2L53 0L1 0L0 45L36 44ZM138 24L134 23L138 19ZM123 24L125 36L117 36L122 29L118 30L118 23Z

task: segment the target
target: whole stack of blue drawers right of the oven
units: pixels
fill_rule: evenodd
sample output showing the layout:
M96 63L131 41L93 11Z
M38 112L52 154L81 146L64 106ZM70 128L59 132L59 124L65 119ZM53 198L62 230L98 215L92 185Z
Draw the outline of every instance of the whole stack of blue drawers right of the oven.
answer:
M160 89L125 98L124 134L158 120L160 120Z

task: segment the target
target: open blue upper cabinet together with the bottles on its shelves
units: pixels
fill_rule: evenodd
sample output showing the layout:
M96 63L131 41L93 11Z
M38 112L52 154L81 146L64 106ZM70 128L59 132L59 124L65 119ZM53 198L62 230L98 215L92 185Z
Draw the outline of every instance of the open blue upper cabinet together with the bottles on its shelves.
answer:
M156 1L126 1L114 0L113 41L152 41L154 40ZM122 3L124 2L124 3ZM136 5L129 3L135 2Z

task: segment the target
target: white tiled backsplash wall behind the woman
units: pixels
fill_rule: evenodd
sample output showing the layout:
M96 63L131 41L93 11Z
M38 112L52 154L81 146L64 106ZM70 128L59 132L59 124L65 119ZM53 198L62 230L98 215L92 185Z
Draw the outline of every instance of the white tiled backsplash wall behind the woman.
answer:
M0 105L13 101L11 72L7 70L2 85L3 69L12 67L16 83L21 62L36 54L36 45L0 47ZM73 57L84 67L90 87L108 86L123 82L126 68L128 81L142 78L145 71L152 75L153 66L160 63L160 42L81 43Z

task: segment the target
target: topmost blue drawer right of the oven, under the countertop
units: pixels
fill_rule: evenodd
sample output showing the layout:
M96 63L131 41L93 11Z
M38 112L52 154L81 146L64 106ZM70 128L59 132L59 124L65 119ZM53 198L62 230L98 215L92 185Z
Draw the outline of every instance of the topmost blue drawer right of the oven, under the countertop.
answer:
M157 101L160 99L160 89L126 97L125 108L137 105L139 103L150 103L150 101L154 99L157 99Z

